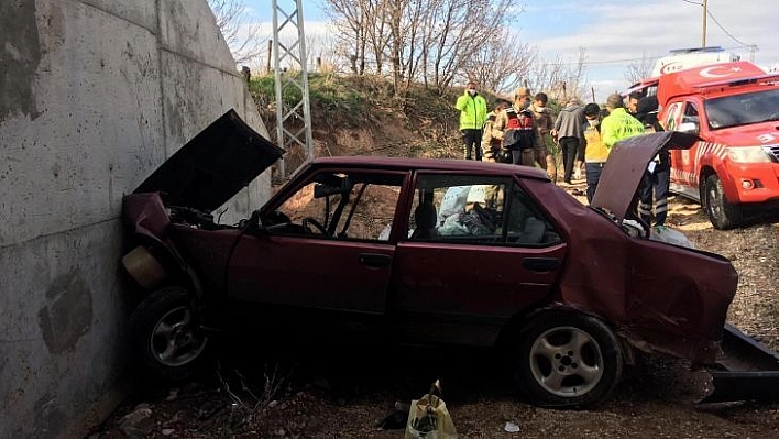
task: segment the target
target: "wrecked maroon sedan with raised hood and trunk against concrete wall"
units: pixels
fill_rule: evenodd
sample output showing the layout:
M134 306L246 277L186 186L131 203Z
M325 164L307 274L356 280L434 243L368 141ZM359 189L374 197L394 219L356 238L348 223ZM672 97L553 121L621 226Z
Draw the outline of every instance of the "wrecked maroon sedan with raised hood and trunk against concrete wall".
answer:
M175 380L233 312L356 321L503 349L544 406L602 400L633 350L714 363L735 270L650 239L628 213L651 157L694 141L618 144L592 206L526 166L317 158L250 218L220 224L212 212L282 155L228 113L124 198L136 244L124 265L152 290L132 317L134 350Z

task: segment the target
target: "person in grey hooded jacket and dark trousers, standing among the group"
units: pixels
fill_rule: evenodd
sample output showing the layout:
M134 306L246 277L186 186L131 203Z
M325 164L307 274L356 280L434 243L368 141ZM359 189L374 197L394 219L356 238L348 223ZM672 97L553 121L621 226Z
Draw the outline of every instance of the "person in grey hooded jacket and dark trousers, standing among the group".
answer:
M579 99L572 98L555 120L552 136L557 136L560 150L562 151L562 166L564 174L562 180L571 184L574 167L581 167L577 160L583 160L584 133L584 109L579 105ZM581 155L581 156L580 156ZM577 173L578 175L579 173Z

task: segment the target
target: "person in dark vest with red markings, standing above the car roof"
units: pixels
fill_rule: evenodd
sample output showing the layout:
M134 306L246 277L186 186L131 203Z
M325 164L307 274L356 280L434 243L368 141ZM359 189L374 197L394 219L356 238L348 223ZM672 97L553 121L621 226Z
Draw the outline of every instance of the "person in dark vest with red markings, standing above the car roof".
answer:
M529 107L530 90L517 88L514 105L497 114L492 128L492 134L502 141L502 147L511 151L515 165L536 166L534 149L541 142L541 136Z

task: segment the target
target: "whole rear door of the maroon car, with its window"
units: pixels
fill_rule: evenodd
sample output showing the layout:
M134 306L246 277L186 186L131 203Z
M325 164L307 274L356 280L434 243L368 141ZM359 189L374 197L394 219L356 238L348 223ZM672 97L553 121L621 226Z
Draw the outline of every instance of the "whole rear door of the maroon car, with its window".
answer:
M390 300L399 331L492 344L509 318L550 295L566 245L517 182L429 173L414 194ZM435 231L418 232L424 215L436 216Z

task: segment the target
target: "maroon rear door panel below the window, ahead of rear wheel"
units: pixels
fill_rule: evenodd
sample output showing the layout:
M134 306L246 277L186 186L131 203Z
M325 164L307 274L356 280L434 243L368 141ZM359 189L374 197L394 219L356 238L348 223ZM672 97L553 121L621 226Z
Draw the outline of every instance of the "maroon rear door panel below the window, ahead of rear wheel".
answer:
M416 328L412 332L428 340L492 344L509 318L548 299L564 255L566 244L401 242L391 312L402 330ZM552 268L538 268L539 261Z

